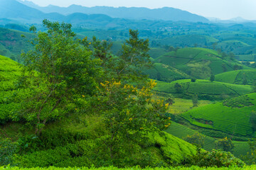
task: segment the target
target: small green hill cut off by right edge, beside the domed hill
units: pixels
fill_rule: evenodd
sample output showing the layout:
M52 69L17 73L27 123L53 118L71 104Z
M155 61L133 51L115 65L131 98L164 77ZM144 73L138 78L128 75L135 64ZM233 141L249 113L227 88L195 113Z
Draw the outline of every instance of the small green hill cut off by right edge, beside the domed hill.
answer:
M255 84L256 69L242 69L215 75L215 81L229 84Z

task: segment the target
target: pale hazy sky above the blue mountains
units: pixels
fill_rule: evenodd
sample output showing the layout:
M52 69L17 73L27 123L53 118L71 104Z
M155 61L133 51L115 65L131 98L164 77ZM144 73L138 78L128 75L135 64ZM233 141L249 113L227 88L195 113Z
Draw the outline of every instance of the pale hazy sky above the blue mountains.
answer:
M256 0L27 0L40 6L137 6L161 8L164 6L180 8L205 17L230 19L242 17L256 20Z

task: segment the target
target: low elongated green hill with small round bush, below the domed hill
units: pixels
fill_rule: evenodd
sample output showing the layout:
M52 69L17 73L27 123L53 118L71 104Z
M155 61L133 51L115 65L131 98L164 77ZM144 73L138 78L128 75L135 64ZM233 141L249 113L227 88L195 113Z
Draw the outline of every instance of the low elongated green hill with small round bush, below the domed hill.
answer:
M181 87L179 89L175 88L176 84L180 84ZM211 82L197 79L196 82L192 82L191 79L183 79L171 83L159 81L154 90L183 97L198 94L198 98L214 100L223 99L227 96L248 94L252 91L252 88L248 85L227 84L218 81Z

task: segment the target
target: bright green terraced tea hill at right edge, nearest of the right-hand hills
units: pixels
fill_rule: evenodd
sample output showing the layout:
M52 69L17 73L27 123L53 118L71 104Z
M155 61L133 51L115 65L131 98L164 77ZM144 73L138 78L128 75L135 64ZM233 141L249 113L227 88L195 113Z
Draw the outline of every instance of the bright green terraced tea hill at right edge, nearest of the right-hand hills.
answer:
M233 135L255 137L250 115L256 109L256 94L247 94L210 104L181 114L189 123L201 128Z

